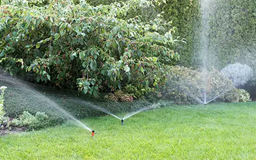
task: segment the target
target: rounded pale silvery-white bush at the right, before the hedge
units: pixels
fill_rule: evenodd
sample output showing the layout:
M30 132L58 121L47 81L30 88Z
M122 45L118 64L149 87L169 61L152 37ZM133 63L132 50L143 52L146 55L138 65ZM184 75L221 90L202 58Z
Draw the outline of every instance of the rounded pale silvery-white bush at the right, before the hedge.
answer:
M248 65L235 63L227 65L221 73L231 79L236 87L243 86L253 77L253 70Z

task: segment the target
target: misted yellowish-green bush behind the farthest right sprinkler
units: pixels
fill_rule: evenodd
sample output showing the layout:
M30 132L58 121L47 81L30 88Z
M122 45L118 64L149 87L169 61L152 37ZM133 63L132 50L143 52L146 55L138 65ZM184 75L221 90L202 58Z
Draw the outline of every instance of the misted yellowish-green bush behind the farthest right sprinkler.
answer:
M234 88L232 81L214 68L209 72L198 72L191 68L173 66L169 70L169 81L162 95L164 99L177 103L211 102Z

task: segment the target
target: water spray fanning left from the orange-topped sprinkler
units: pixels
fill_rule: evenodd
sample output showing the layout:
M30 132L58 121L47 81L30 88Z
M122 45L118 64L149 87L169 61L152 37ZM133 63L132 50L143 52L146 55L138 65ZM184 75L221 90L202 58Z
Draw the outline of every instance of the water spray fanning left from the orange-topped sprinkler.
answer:
M3 83L8 88L14 88L15 93L12 93L12 99L19 100L19 104L24 104L26 108L33 108L33 111L43 111L49 115L56 115L60 118L65 118L70 120L79 127L83 127L84 129L91 131L90 127L83 124L81 121L77 120L70 113L61 108L56 102L50 100L47 96L39 91L35 90L28 84L13 78L12 76L5 74L0 70L0 83Z

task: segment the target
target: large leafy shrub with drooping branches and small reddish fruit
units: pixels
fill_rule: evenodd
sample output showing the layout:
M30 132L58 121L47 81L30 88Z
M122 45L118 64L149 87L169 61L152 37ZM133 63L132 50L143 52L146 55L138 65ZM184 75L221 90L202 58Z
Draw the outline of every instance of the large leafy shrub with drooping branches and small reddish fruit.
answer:
M161 15L148 22L118 17L152 4L131 0L93 7L58 1L38 7L12 1L0 11L1 65L11 74L26 70L38 82L78 86L94 96L127 83L151 92L166 81L164 68L180 58L173 51L174 29Z

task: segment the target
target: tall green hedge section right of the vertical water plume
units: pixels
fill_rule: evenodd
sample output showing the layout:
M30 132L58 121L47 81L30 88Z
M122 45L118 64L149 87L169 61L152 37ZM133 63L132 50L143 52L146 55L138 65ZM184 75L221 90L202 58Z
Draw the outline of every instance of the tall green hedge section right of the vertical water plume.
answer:
M240 62L256 68L256 1L216 1L211 20L211 46L220 68Z

